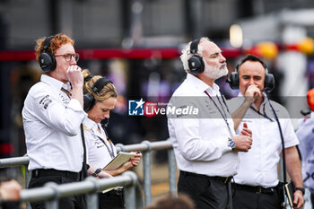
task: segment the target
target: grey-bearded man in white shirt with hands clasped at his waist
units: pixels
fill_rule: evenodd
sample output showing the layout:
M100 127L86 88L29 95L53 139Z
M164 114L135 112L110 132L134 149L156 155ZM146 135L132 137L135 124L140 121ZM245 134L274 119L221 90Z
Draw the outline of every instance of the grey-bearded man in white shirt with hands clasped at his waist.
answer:
M170 139L180 170L178 191L197 209L231 209L232 176L238 152L248 152L251 131L235 135L233 121L214 81L228 69L222 50L208 38L195 39L182 50L186 80L173 93L167 109ZM184 109L197 109L193 114ZM196 113L197 114L194 114Z

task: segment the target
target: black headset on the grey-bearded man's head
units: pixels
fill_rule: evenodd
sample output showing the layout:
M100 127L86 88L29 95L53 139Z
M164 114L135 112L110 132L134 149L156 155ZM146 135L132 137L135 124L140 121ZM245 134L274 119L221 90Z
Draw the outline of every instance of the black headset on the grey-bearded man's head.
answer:
M191 54L196 54L198 50L198 44L200 39L195 39L191 42L189 47L189 52ZM203 57L198 55L193 55L188 59L188 69L191 71L191 74L202 74L204 72L205 64Z

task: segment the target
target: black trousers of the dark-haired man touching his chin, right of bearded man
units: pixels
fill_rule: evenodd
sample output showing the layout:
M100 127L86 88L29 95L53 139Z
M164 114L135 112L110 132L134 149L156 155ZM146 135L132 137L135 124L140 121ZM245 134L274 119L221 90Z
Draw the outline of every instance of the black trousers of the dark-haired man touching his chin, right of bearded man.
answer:
M233 209L282 209L278 189L254 192L247 187L231 184Z

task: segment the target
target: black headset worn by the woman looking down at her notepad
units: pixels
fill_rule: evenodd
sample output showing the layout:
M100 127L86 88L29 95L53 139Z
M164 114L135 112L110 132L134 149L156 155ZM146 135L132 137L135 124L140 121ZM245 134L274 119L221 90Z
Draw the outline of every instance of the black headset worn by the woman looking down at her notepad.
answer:
M102 88L107 85L108 83L112 83L108 78L106 77L102 77L100 79L98 79L93 85L92 85L92 91L94 91L95 93L98 94L98 92L100 90L102 90ZM96 104L96 100L94 98L94 96L92 95L92 93L85 93L84 97L84 111L88 111L90 109L92 109L92 107Z

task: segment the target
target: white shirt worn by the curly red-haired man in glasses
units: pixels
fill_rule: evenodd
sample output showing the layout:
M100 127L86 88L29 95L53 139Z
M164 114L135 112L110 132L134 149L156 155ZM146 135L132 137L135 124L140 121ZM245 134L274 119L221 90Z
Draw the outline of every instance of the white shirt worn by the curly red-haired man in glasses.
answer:
M46 74L31 87L22 109L29 170L79 172L83 165L80 124L86 117L78 100L70 100L64 83Z

